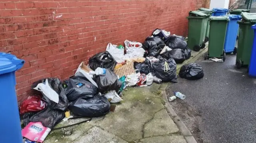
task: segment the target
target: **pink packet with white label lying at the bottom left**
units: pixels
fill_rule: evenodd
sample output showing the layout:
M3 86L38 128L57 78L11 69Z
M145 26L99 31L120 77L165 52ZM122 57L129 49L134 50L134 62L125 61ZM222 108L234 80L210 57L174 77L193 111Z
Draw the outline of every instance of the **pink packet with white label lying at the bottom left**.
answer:
M51 129L44 127L41 122L30 122L22 129L22 136L30 141L42 143Z

